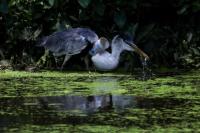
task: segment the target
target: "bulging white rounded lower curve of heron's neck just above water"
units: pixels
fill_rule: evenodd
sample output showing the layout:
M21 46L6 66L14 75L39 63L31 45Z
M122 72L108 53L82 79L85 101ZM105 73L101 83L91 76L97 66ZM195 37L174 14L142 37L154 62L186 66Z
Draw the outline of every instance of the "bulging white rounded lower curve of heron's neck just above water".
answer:
M92 57L92 62L97 69L102 71L113 70L119 63L109 52L96 54Z

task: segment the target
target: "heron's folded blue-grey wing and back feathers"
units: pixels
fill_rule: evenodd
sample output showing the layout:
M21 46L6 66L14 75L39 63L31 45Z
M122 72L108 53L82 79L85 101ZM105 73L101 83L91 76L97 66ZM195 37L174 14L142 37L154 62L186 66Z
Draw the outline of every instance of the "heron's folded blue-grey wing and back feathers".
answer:
M98 39L95 32L86 28L72 28L55 32L47 37L43 46L59 55L77 54L87 47L88 42L94 43Z

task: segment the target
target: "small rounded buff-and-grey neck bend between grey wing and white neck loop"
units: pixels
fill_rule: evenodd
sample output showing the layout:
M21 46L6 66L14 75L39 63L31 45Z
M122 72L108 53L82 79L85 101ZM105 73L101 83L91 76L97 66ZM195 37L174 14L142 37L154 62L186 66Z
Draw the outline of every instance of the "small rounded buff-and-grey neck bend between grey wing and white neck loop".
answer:
M97 53L104 52L109 48L110 44L105 37L100 37L98 41L95 42L93 48L90 50L91 55L96 55Z

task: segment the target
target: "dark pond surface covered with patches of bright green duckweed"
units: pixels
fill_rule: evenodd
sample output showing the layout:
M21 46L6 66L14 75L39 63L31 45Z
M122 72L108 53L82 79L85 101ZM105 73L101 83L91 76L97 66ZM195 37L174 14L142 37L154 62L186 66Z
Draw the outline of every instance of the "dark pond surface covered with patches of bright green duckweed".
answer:
M197 72L42 75L2 74L1 132L200 132Z

